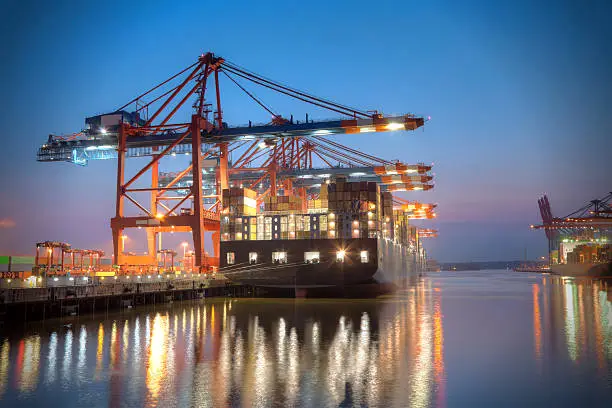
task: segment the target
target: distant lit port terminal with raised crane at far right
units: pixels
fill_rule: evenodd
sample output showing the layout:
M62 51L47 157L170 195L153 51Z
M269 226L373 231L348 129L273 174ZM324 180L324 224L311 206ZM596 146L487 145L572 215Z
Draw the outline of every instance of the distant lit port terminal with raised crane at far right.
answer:
M548 197L538 200L548 238L551 272L564 276L612 276L612 193L591 200L562 218L553 217Z

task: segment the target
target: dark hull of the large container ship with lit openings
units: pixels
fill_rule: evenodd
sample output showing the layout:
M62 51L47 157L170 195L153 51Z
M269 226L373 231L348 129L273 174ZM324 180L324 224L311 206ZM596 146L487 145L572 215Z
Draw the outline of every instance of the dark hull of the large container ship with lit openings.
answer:
M343 262L337 260L340 250L345 251ZM304 253L315 251L319 261L305 262ZM367 262L362 262L362 251L367 251ZM253 252L256 263L249 261ZM285 252L286 262L273 262L273 252ZM269 288L320 289L373 282L388 287L417 275L422 262L412 252L379 238L229 241L221 243L220 272L234 282ZM228 253L233 253L232 265Z

